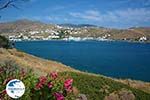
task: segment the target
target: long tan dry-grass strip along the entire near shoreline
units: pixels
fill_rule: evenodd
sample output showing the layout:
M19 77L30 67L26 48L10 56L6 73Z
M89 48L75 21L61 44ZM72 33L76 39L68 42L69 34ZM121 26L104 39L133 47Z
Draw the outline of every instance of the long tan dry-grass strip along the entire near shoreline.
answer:
M0 49L0 55L2 59L0 59L1 62L6 60L11 60L17 65L21 66L21 68L25 69L32 69L33 73L36 75L46 75L49 72L57 71L57 72L66 72L66 73L76 73L77 75L85 75L89 77L97 77L97 78L104 78L105 80L112 80L115 82L122 83L124 85L128 85L132 88L136 88L139 90L144 91L145 93L150 93L150 82L144 82L140 80L131 80L131 79L117 79L112 78L108 76L104 76L101 74L94 74L89 72L83 72L80 70L76 70L74 68L71 68L70 66L66 66L60 62L52 61L52 60L46 60L43 58L39 58L24 52L20 52L16 49ZM35 62L35 63L34 63ZM51 67L48 67L51 66ZM52 69L54 68L54 69Z

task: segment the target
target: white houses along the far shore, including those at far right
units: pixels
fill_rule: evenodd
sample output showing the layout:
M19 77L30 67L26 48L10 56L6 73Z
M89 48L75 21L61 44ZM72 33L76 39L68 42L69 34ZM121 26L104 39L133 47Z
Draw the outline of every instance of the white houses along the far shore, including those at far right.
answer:
M61 26L57 26L57 28L62 29ZM63 27L64 29L64 27ZM72 34L81 34L82 32L86 33L86 28L80 30L80 28L74 29L74 28L65 28L64 33L69 33L67 37L61 37L60 33L58 31L52 30L52 29L46 29L41 31L29 31L27 33L18 33L17 35L11 35L9 36L10 41L34 41L34 40L53 40L53 39L61 39L61 40L74 40L74 41L81 41L81 40L99 40L99 41L108 41L108 37L110 37L110 34L101 36L101 37L73 37ZM44 35L47 34L47 35ZM126 40L126 39L124 39ZM140 37L138 41L146 41L147 38L145 36Z

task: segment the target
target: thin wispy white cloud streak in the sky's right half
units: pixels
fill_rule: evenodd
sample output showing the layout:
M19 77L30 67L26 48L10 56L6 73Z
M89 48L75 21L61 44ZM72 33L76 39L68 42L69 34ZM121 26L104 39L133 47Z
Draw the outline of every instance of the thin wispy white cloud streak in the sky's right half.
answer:
M87 10L84 12L71 12L70 15L83 20L103 23L116 22L127 24L150 22L150 10L146 8L127 8L124 10L113 10L103 13L98 10Z

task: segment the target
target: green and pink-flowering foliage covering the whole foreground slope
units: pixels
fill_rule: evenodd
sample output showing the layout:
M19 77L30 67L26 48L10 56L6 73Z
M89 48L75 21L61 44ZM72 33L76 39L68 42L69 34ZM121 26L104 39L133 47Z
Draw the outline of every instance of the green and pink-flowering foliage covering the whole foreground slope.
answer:
M105 96L122 89L131 91L136 100L150 100L150 94L110 78L76 72L52 72L36 77L32 70L22 69L11 61L0 65L0 99L11 99L5 91L11 79L20 79L25 84L26 91L20 100L75 100L78 94L74 94L73 86L89 100L103 100Z

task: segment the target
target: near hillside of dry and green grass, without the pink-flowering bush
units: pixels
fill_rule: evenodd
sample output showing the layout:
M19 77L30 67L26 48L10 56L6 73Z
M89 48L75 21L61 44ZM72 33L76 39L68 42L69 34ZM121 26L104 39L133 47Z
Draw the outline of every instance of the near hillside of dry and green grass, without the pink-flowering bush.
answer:
M74 92L85 95L88 100L149 100L150 83L108 78L102 75L80 72L61 63L41 59L16 49L0 48L0 65L15 64L37 75L57 71L63 77L74 79ZM122 98L122 99L121 99Z

